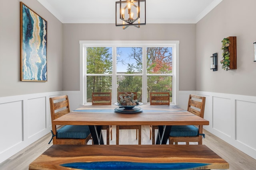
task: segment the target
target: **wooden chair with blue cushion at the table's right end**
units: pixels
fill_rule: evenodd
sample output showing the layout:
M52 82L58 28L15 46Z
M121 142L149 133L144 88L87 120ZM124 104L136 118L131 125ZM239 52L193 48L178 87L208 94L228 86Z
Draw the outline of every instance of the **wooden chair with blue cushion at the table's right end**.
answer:
M205 100L205 97L190 94L188 111L204 118ZM171 127L169 144L173 145L175 143L178 145L178 142L186 142L186 145L189 145L189 142L198 142L198 145L202 145L203 137L203 125L175 125Z

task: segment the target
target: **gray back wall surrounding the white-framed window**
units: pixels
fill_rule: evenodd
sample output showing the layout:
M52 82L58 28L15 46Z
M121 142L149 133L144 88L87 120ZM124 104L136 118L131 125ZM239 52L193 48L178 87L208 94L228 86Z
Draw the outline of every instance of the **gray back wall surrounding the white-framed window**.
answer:
M80 40L179 40L179 90L196 90L196 24L147 24L125 30L115 24L63 24L63 90L80 90Z

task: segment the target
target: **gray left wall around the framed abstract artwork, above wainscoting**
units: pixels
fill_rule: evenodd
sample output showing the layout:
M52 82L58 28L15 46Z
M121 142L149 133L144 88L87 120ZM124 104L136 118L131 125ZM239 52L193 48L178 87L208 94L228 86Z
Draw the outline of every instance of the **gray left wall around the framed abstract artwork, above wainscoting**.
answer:
M20 81L20 0L0 0L0 97L62 90L62 23L38 1L22 2L48 21L48 82Z

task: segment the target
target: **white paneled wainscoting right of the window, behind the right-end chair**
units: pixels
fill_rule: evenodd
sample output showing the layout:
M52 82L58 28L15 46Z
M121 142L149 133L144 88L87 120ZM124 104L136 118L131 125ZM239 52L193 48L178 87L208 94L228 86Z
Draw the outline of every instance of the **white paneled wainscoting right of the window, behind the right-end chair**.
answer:
M184 109L189 94L205 96L204 119L210 125L204 129L256 159L256 96L201 91L179 93L179 103Z

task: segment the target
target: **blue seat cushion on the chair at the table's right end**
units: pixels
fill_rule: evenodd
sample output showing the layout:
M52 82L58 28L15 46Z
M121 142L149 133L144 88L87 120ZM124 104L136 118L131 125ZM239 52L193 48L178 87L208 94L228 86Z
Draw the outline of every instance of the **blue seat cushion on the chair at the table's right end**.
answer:
M198 128L193 125L174 125L171 127L170 136L172 137L186 137L197 136Z

